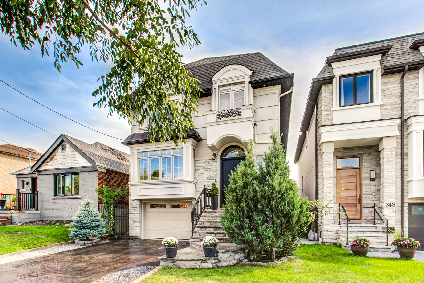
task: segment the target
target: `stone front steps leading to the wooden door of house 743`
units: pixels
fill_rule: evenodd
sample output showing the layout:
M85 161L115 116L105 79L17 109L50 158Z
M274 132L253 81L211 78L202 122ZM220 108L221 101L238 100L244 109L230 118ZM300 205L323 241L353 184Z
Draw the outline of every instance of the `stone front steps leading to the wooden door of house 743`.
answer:
M370 252L391 251L390 246L386 247L386 225L384 224L351 224L349 222L348 244L346 244L346 224L337 226L337 242L346 250L351 250L350 241L352 238L366 238L371 241Z

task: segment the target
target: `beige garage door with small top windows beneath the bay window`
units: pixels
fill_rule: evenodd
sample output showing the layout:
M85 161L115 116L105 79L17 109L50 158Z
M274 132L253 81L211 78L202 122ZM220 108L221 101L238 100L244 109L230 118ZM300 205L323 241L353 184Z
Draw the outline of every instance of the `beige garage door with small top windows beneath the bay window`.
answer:
M145 202L144 207L144 238L188 240L191 236L191 201Z

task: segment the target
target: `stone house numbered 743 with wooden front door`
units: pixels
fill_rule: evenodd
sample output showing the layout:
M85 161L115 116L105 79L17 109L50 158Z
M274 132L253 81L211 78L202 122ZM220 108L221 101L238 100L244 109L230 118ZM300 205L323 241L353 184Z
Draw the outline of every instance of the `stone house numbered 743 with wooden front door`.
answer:
M386 225L424 241L423 54L424 33L337 48L312 80L301 123L301 193L333 211L343 205L349 235L365 234L376 249L390 249ZM346 242L337 216L320 219L317 232Z

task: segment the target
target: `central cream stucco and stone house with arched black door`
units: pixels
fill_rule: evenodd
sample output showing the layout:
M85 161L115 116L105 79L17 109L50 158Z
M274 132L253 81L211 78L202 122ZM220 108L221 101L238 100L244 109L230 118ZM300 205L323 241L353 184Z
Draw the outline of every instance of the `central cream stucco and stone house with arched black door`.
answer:
M271 141L271 127L287 145L293 73L259 52L205 58L185 67L204 90L186 143L153 146L148 121L132 124L123 142L131 151L130 236L189 239L192 204L215 182L222 207L229 174L244 160L249 140L257 162Z

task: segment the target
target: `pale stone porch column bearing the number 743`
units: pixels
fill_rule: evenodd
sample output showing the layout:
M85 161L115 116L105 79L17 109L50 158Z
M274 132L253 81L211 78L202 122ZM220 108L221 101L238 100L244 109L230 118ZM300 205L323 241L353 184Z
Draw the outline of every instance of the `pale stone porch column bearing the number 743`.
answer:
M395 224L396 207L386 207L386 202L396 202L396 167L395 167L396 137L382 137L380 140L380 206L389 221L389 226ZM399 205L400 204L396 204ZM376 216L378 217L378 216Z

